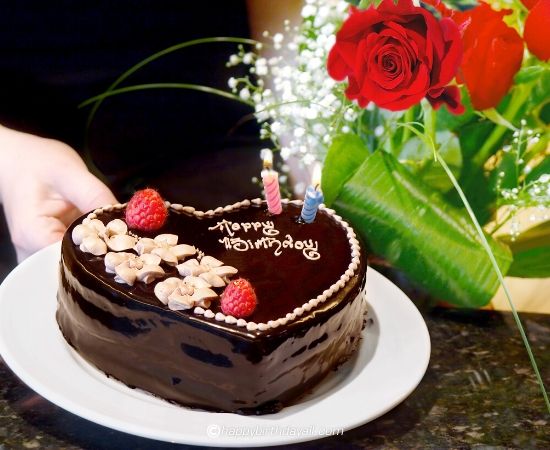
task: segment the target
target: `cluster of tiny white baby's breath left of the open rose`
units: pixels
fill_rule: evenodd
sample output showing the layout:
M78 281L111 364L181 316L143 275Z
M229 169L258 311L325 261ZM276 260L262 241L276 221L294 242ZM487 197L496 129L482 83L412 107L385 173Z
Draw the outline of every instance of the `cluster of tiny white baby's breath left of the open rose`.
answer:
M348 8L345 1L306 0L300 26L291 29L286 21L284 34L264 32L275 56L240 48L229 59L229 66L250 66L249 76L230 78L229 87L252 100L261 137L272 141L283 160L296 156L306 166L322 161L332 136L350 131L357 119L357 107L344 100L343 86L325 70Z

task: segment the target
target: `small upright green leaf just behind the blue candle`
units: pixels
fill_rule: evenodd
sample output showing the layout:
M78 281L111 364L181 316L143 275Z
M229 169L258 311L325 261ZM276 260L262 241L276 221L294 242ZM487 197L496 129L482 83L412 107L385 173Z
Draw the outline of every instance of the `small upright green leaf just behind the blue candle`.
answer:
M331 205L342 186L368 155L363 141L355 134L336 136L323 164L322 188L325 203Z

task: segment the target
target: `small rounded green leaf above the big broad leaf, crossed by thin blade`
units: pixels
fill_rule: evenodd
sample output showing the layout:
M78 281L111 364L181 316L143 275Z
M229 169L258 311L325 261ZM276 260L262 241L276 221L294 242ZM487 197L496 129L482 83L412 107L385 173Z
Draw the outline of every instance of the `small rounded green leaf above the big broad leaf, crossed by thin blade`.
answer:
M439 154L458 178L462 167L462 153L458 138L449 131L438 131L436 141L439 144ZM420 177L428 186L441 192L446 192L453 187L441 165L434 159L432 150L417 136L410 138L395 156L401 164Z

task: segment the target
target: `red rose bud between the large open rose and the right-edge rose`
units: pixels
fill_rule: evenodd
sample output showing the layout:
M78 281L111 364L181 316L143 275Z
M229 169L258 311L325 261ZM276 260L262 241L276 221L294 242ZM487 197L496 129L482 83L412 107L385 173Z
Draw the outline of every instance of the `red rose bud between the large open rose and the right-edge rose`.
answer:
M495 11L480 3L464 13L452 14L453 20L464 25L464 59L459 77L466 83L476 109L497 106L521 66L523 41L502 20L510 12Z

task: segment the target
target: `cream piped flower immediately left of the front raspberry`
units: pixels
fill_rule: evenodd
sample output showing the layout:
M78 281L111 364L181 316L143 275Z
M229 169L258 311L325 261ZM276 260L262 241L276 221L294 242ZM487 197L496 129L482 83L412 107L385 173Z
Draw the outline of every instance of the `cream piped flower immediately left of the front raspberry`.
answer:
M218 297L210 285L198 277L171 277L155 285L156 297L168 308L179 311L195 306L209 308L210 302Z

